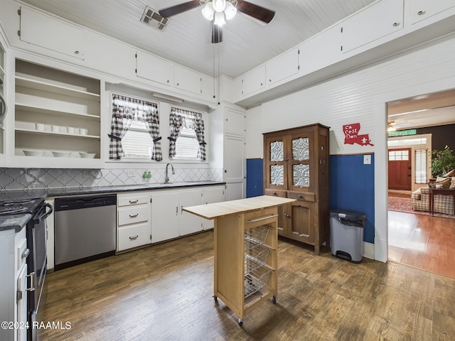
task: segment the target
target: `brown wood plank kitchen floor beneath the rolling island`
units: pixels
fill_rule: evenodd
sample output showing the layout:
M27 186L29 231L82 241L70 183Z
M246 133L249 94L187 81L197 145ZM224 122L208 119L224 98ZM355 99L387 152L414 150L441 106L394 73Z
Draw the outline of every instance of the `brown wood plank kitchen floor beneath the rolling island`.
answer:
M454 340L455 281L279 242L279 294L245 316L213 300L213 232L48 274L40 340ZM70 328L64 329L65 323Z

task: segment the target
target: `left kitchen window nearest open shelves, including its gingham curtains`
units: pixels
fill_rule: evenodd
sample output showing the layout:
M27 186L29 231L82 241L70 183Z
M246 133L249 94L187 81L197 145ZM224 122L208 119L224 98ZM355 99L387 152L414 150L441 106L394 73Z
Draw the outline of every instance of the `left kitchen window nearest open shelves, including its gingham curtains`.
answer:
M112 94L109 159L161 161L158 104Z

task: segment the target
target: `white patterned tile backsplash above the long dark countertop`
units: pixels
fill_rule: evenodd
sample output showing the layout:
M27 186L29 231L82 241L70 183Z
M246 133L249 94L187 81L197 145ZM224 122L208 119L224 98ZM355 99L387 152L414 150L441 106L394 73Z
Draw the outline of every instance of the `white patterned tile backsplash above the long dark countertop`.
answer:
M222 181L222 169L175 168L171 182L181 181ZM144 172L151 172L151 178L144 179ZM40 190L49 188L85 188L101 186L141 185L163 183L164 169L60 169L60 168L0 168L0 191Z

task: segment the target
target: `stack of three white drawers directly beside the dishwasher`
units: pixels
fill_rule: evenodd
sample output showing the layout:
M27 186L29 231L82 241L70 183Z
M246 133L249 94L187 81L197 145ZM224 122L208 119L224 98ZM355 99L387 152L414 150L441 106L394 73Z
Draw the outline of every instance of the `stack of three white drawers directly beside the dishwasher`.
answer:
M117 251L151 243L149 193L117 194Z

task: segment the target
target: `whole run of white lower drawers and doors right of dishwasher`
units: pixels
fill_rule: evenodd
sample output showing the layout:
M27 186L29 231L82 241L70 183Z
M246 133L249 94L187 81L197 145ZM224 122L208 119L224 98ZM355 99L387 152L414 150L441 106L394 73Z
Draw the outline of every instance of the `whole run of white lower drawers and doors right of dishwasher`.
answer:
M117 193L117 252L213 229L182 207L224 200L224 185Z

